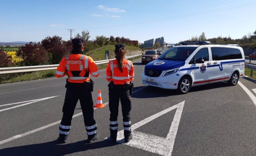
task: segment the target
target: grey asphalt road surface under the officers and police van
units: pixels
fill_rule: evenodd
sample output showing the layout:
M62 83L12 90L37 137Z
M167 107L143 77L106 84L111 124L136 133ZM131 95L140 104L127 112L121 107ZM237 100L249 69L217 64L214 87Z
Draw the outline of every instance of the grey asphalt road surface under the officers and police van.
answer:
M254 80L241 78L236 86L224 82L203 85L193 87L186 95L178 95L173 90L141 84L144 65L139 63L140 58L133 62L135 93L131 122L135 135L131 142L106 140L109 136L107 105L94 110L99 140L85 144L87 136L78 102L67 143L56 144L66 77L48 78L0 85L0 155L167 155L165 149L173 156L255 155ZM98 89L103 103L107 103L105 69L93 80L94 104ZM120 113L121 106L118 124L122 137Z

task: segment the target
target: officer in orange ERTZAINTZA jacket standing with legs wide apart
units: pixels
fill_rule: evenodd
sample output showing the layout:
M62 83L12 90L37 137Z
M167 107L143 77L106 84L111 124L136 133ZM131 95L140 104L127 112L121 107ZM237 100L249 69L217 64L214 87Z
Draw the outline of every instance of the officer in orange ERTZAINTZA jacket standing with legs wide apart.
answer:
M60 135L57 139L59 143L65 143L71 127L71 120L74 114L76 103L79 99L85 129L87 131L87 142L98 139L97 125L93 118L93 102L91 91L93 91L93 81L90 75L99 76L99 71L93 59L83 55L83 40L72 39L72 54L62 58L56 70L56 77L60 78L67 73L66 95L63 105L63 117L60 124Z

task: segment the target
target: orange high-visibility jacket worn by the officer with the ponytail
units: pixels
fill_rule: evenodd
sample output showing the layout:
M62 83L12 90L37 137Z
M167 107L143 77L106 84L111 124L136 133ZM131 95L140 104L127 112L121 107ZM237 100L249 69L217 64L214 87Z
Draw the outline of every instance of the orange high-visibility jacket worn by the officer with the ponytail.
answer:
M108 82L113 81L116 85L123 85L133 81L134 68L132 61L123 59L123 64L123 72L121 72L118 68L117 59L108 62L106 69L106 79Z

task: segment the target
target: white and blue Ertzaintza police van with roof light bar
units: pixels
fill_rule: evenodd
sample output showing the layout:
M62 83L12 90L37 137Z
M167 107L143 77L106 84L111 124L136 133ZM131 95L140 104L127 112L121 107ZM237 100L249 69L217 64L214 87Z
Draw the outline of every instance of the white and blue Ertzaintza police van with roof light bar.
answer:
M142 83L186 94L193 86L220 81L234 86L244 67L244 52L238 45L181 42L144 67Z

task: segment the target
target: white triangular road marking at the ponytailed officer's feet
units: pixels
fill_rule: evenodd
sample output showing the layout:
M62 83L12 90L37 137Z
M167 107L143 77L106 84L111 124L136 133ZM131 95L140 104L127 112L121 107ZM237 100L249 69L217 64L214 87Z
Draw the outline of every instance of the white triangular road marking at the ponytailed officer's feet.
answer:
M169 130L169 133L167 134L166 138L133 130L132 131L133 139L130 142L125 143L125 145L129 145L129 146L132 146L135 148L143 149L145 151L149 151L149 152L153 152L153 153L157 153L157 154L161 154L161 155L165 155L165 156L172 155L173 146L174 146L176 134L178 131L184 104L185 104L185 101L183 101L177 105L174 105L166 110L163 110L163 111L161 111L151 117L148 117L140 122L137 122L131 126L131 129L136 129L136 128L154 120L155 118L160 117L160 116L177 108L176 113L173 118L173 121L172 121L172 124L171 124L171 127L170 127L170 130ZM124 133L124 130L121 130L117 133L117 140L118 140L117 142L118 143L124 143L123 133ZM109 137L107 139L109 139Z

